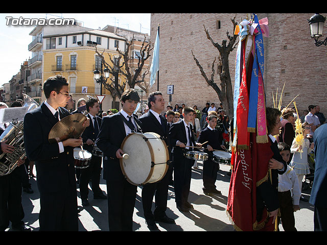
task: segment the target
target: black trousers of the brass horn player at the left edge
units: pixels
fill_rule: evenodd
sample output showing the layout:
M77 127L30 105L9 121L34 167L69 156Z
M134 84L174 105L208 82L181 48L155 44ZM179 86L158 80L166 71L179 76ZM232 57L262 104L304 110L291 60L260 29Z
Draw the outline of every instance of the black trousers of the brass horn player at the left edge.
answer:
M9 175L0 176L0 231L5 231L9 222L13 227L24 224L24 210L21 205L21 175L24 166L16 167ZM25 170L25 169L23 169Z

